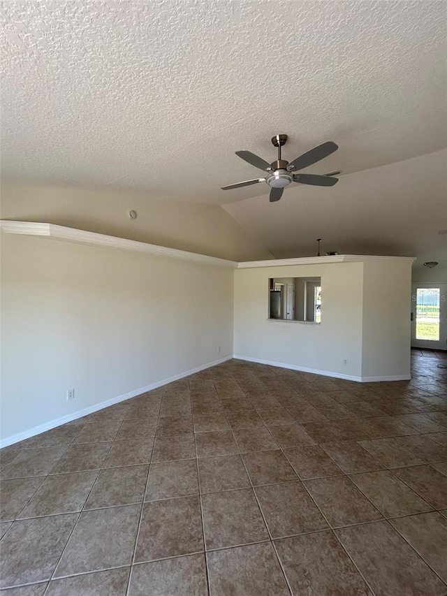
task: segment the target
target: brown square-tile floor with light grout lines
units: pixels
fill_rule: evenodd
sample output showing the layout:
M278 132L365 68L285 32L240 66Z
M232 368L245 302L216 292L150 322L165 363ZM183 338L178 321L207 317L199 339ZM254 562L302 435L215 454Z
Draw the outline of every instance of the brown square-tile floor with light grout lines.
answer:
M447 356L228 361L0 453L10 596L447 594Z

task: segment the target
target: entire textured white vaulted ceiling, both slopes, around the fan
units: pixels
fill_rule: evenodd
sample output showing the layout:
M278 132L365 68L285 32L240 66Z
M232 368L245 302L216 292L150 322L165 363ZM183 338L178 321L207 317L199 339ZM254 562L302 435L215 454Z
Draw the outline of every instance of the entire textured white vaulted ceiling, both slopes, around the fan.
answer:
M275 256L446 246L444 0L6 0L1 35L4 176L219 203ZM338 184L222 191L276 133Z

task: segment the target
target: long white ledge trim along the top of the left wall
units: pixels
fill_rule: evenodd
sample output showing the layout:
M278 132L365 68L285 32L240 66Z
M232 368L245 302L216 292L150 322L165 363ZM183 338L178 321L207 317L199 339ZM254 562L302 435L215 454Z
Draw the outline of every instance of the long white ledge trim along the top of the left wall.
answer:
M0 229L8 234L42 236L44 238L52 238L53 240L61 240L63 242L75 242L76 244L89 246L158 254L159 256L168 256L174 259L182 259L184 261L195 261L202 265L228 267L230 269L235 269L237 267L235 261L219 259L217 256L186 252L175 248L148 244L147 242L138 242L137 240L129 240L127 238L117 238L116 236L87 232L85 230L77 230L75 228L67 228L66 226L57 226L55 224L41 224L33 221L8 221L2 219L0 220Z

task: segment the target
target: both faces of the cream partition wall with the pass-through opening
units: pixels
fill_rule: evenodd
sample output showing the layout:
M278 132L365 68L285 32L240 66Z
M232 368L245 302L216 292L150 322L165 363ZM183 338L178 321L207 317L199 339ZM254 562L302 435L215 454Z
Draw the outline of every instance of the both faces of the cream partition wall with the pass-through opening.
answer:
M321 277L321 324L268 320L269 277ZM362 381L409 378L410 291L411 259L235 270L234 353Z

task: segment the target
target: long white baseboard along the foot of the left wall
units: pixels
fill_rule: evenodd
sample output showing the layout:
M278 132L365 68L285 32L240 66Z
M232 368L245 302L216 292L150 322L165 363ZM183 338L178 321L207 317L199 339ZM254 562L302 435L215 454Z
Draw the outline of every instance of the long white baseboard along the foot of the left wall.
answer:
M200 370L205 370L212 366L216 366L217 364L221 364L223 362L226 362L227 360L231 360L231 358L233 358L233 354L231 354L230 356L225 356L225 358L219 358L219 360L215 360L202 366L198 366L197 368L191 368L191 370L180 372L179 375L168 377L168 379L156 381L156 383L152 383L150 385L147 385L146 387L140 387L138 389L134 389L133 391L129 391L129 393L117 395L115 398L110 398L110 400L105 400L103 402L99 402L84 409L79 409L76 412L71 412L71 414L66 414L66 416L61 416L60 418L50 420L49 422L39 424L38 426L33 426L33 428L24 430L22 433L17 433L16 435L6 437L6 439L1 439L0 449L9 445L13 445L14 443L18 443L19 441L23 441L24 439L29 439L30 437L34 437L35 435L45 433L45 430L51 430L52 428L61 426L61 424L77 420L78 418L82 418L82 416L87 416L87 414L93 414L94 412L98 412L98 410L104 409L105 407L118 404L119 402L124 402L125 400L129 400L130 398L135 398L136 395L140 395L141 393L145 393L146 391L152 391L152 389L162 387L163 385L167 385L168 383L172 383L173 381L178 381L179 379L183 379L184 377L189 377L189 375L193 375L195 372L200 372Z

